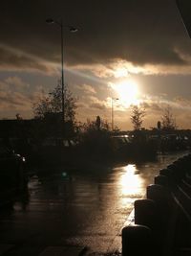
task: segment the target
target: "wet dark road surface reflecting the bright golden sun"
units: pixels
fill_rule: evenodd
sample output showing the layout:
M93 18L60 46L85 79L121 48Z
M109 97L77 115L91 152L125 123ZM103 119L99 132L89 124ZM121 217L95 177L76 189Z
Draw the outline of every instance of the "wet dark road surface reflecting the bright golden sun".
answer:
M32 175L28 196L0 213L0 244L15 246L9 255L39 255L48 245L88 246L98 253L120 251L121 228L134 201L144 197L159 169L180 155L88 172L60 169L52 175Z

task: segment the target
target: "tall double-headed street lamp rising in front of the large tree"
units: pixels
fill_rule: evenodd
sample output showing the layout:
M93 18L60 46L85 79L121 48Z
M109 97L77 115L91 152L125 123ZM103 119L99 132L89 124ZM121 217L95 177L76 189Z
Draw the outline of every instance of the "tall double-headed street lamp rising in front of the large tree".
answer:
M72 26L63 25L62 19L60 21L54 20L53 18L46 19L48 24L56 24L60 28L61 32L61 85L62 85L62 121L63 121L63 129L65 125L65 98L64 98L64 38L63 38L63 28L66 27L69 29L71 33L77 32L77 29Z

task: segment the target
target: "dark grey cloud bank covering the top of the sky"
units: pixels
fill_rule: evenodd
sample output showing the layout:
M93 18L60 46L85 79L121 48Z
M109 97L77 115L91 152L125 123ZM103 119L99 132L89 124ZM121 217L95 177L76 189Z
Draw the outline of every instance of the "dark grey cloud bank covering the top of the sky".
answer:
M1 3L1 42L32 57L60 61L60 32L45 23L62 17L79 31L64 31L65 61L103 63L123 58L136 64L186 64L191 55L173 0L33 0ZM54 26L54 27L53 27ZM39 60L1 48L1 66L31 67L47 72Z

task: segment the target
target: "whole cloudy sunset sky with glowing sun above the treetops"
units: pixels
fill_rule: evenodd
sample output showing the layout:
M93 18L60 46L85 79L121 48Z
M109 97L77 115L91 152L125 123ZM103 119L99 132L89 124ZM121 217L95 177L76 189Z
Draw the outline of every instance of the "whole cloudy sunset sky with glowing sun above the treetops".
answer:
M53 18L66 25L64 75L78 121L111 123L118 98L118 128L132 128L131 105L145 108L145 128L167 105L178 128L191 128L191 39L175 0L7 0L0 12L0 119L32 118L32 102L60 80L60 28L46 23Z

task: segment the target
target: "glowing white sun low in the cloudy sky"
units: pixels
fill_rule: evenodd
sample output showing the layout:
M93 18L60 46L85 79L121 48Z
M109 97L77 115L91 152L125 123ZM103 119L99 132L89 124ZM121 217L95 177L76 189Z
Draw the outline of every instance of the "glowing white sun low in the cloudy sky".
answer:
M126 107L138 105L138 84L136 81L121 81L112 84L112 88L117 92L117 98L121 105Z

